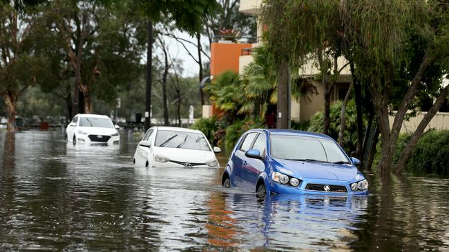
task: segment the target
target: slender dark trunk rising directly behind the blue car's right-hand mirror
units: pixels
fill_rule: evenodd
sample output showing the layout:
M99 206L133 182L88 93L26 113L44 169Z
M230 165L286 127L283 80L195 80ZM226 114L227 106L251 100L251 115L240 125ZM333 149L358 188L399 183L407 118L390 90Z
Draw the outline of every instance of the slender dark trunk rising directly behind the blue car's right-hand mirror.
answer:
M354 100L356 102L356 121L357 121L357 145L356 158L363 160L363 114L362 114L362 88L359 79L356 77L354 61L350 60L352 83L354 85ZM363 162L363 161L362 161Z

